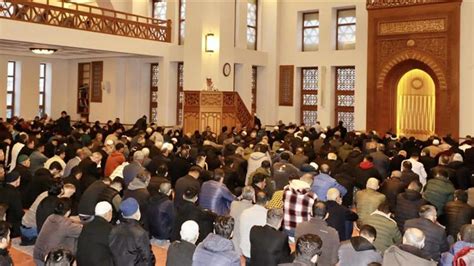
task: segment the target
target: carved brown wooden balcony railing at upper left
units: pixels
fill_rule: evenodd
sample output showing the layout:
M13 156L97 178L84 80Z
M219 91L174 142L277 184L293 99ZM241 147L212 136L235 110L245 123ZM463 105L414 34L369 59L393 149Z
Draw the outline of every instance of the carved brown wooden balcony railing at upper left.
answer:
M171 42L171 20L159 20L63 1L0 1L0 18Z

